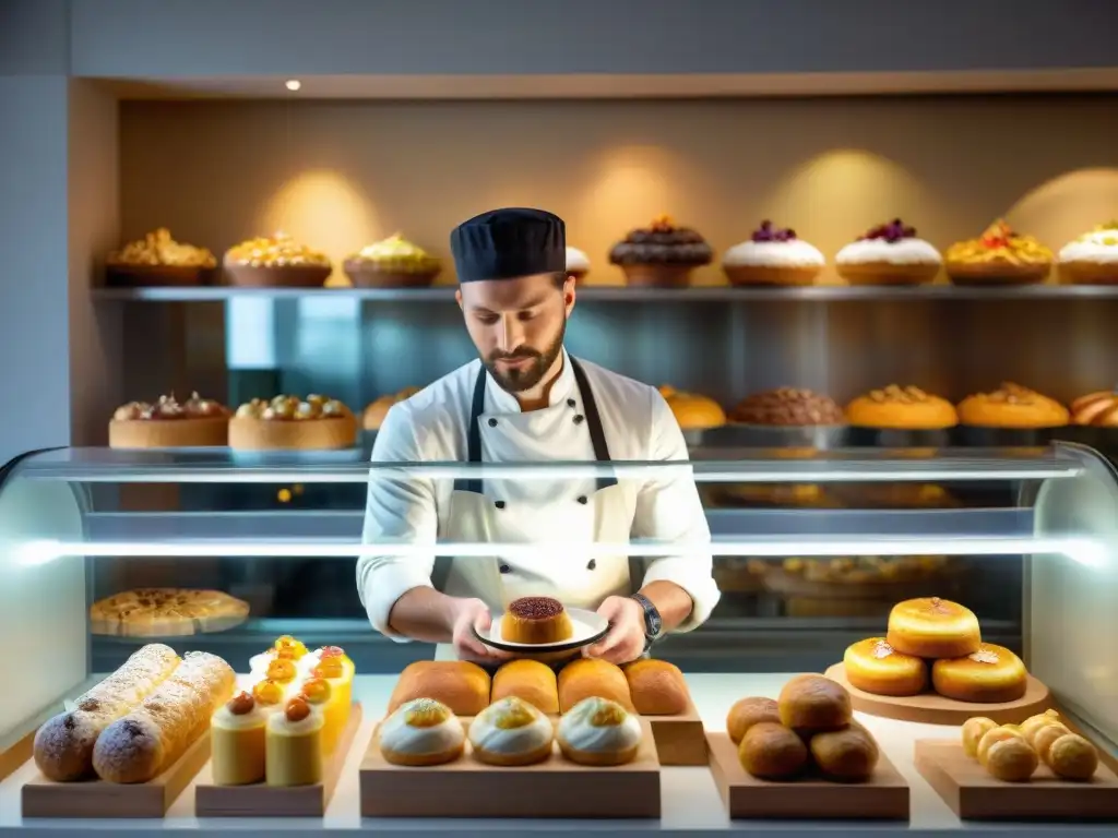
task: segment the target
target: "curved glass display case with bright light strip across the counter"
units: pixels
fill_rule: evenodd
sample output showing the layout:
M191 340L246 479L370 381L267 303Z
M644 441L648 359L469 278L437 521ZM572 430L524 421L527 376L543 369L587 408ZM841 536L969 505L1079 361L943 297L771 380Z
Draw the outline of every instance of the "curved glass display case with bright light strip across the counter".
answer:
M610 476L637 487L666 475L693 477L710 542L362 540L371 482ZM711 618L653 648L711 689L748 673L822 672L849 644L881 634L899 600L959 601L976 612L985 640L1018 651L1060 706L1112 749L1116 513L1114 467L1072 444L796 459L708 447L690 463L502 465L370 465L362 449L32 453L0 482L0 628L30 661L18 688L0 698L0 744L25 736L152 639L211 651L244 673L275 637L295 635L309 647L343 646L362 676L395 676L432 648L373 632L358 597L358 556L470 561L530 552L636 563L713 555L721 599ZM91 611L106 597L165 587L220 591L247 608L226 621L191 617L176 630L106 628Z

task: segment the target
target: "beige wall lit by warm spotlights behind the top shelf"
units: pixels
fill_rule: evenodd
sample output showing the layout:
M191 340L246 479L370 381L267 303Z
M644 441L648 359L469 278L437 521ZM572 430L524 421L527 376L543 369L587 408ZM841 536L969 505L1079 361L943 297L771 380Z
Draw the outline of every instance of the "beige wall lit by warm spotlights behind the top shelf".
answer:
M561 215L595 283L662 212L719 250L765 217L830 258L894 216L942 248L1003 213L1058 247L1118 216L1118 97L122 105L126 237L282 227L340 260L399 230L445 256L501 204Z

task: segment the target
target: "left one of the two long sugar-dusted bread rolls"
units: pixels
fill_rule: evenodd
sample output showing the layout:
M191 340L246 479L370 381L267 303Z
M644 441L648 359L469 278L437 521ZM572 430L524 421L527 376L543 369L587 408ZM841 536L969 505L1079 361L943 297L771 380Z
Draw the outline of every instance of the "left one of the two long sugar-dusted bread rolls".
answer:
M93 747L102 731L134 710L163 683L179 656L163 644L148 644L35 734L35 764L48 780L69 782L93 774Z

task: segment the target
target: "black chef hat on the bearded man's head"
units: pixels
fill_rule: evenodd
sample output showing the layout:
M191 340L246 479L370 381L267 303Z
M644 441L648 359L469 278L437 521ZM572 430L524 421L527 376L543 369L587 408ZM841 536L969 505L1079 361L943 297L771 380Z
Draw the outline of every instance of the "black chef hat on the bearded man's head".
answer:
M459 283L555 274L567 269L567 226L543 210L493 210L455 227L451 251Z

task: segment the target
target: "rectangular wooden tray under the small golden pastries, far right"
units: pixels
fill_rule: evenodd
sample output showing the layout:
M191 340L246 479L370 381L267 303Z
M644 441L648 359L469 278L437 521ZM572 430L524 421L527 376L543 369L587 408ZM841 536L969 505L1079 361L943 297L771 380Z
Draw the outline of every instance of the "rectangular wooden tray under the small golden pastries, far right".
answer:
M1090 782L1057 779L1046 765L1007 783L986 773L959 742L917 740L916 769L963 820L1118 819L1118 777L1107 765Z

